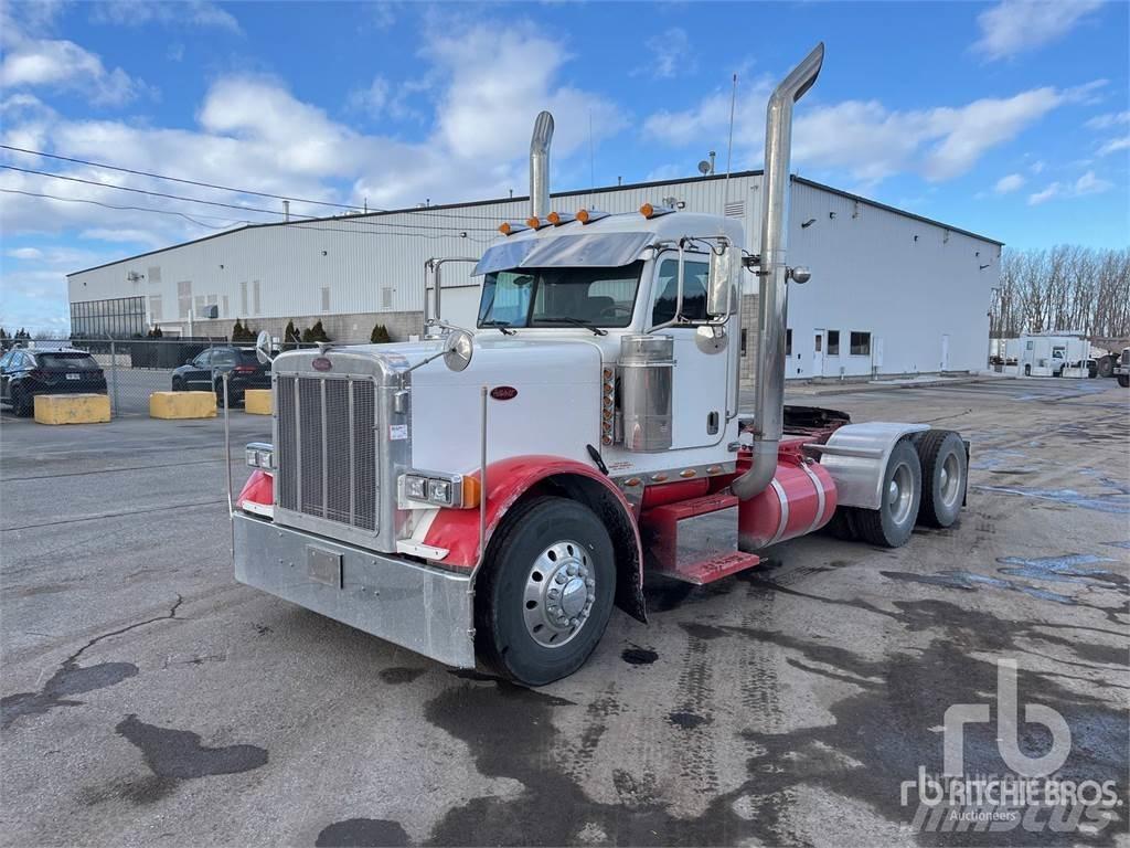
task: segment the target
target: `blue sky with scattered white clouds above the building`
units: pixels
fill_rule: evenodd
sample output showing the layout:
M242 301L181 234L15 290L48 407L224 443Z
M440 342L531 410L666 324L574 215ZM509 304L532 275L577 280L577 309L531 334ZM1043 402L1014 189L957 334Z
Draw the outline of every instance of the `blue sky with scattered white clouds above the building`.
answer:
M760 167L765 99L819 41L794 172L1014 248L1124 248L1128 9L3 0L0 137L37 153L0 149L0 325L66 332L67 272L280 218L241 191L371 209L524 194L542 109L555 191L689 176L709 150L725 166L736 73L732 167Z

